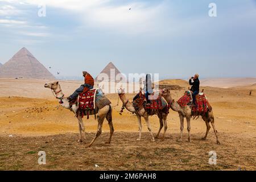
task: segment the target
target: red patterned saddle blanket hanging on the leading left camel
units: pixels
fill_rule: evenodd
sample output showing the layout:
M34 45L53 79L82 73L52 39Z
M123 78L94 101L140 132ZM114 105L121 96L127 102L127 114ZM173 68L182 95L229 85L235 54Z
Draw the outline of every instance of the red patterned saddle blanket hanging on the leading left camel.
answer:
M79 109L93 110L94 109L94 96L96 89L88 90L79 94Z

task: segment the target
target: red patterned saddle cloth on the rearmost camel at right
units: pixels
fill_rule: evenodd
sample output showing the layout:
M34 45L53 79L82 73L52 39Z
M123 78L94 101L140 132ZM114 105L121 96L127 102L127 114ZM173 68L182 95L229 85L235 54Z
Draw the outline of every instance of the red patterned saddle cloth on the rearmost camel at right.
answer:
M196 95L196 106L192 105L193 104L193 99L192 99L192 92L191 91L186 91L184 96L182 96L177 103L181 106L187 106L191 105L192 113L193 115L204 115L207 113L207 111L211 111L212 107L209 105L209 102L207 100L207 97L205 96L204 93L199 93Z

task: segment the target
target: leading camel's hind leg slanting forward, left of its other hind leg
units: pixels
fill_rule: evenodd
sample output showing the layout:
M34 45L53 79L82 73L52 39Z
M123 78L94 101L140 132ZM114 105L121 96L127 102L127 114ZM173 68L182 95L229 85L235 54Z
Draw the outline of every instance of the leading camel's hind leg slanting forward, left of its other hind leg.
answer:
M104 122L104 119L106 117L106 115L108 114L109 111L109 105L103 107L102 109L98 110L98 115L97 115L97 120L98 120L98 130L96 133L96 136L94 137L94 139L92 140L92 142L90 142L90 144L88 144L88 146L86 147L90 147L92 146L92 144L94 143L94 141L101 135L102 132L102 125Z

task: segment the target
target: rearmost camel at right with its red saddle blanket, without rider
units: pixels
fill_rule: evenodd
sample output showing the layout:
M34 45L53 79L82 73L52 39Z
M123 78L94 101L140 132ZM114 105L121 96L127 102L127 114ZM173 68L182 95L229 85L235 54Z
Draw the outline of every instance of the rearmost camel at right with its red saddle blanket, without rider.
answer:
M180 117L180 138L178 141L182 141L182 135L183 135L183 129L184 129L184 117L187 119L187 130L188 130L188 141L191 142L191 117L195 119L196 117L201 117L205 121L205 124L207 126L207 131L205 133L205 137L202 138L204 140L207 139L207 135L210 130L210 124L212 123L212 127L214 130L214 133L216 135L217 139L217 144L220 144L220 141L218 140L218 133L217 130L214 126L214 116L213 116L213 111L212 107L210 107L209 102L207 101L207 98L204 93L200 93L196 96L196 102L197 106L191 106L190 104L192 103L192 97L191 93L185 92L184 96L180 98L179 101L175 102L172 99L171 92L169 89L163 89L162 93L160 93L164 99L168 102L169 107L179 113Z

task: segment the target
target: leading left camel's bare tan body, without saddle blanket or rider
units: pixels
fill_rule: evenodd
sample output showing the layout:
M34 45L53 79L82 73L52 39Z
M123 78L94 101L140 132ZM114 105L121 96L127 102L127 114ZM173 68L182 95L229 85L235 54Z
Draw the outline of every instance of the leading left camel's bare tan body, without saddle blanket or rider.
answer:
M77 142L82 142L84 140L85 127L84 127L84 122L82 122L82 117L81 117L81 113L80 113L81 111L78 109L78 106L76 104L74 104L74 105L72 105L71 108L69 107L68 99L64 97L64 94L61 91L59 82L52 82L49 84L45 84L44 87L51 89L55 93L56 98L59 101L61 106L63 106L65 109L69 109L69 110L73 111L73 113L76 114L76 117L79 121L79 132L80 132L80 137ZM96 97L97 97L97 94L96 94ZM101 135L102 125L103 125L105 118L109 122L109 128L110 128L110 137L106 143L109 144L111 142L111 138L114 133L114 127L113 127L113 123L112 123L112 106L111 106L111 104L102 107L102 109L97 109L97 108L98 107L96 105L96 113L95 114L97 114L98 130L96 133L96 137L94 137L92 142L90 142L90 144L88 144L88 146L86 146L86 147L92 146L93 142ZM92 112L91 114L94 114L94 113ZM83 133L83 135L82 135L82 133Z

